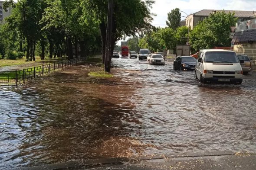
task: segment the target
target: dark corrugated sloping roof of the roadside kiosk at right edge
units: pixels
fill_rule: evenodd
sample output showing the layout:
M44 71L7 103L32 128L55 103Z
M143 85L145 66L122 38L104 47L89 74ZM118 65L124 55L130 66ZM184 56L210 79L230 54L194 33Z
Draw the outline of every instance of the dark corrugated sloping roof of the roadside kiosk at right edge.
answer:
M256 29L235 32L232 42L254 42L256 41Z

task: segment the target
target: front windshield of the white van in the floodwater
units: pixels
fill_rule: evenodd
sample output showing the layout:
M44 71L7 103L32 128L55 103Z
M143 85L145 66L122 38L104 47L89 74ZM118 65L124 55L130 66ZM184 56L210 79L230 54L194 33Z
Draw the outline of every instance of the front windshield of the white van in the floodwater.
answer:
M209 63L239 63L234 52L229 51L208 51L205 53L204 62Z

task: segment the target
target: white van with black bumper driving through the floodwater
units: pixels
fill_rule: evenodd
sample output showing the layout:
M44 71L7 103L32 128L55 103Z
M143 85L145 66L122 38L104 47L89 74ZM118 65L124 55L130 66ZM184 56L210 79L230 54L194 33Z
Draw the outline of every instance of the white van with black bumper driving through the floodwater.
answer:
M243 70L234 51L220 49L200 50L197 58L195 78L202 83L223 82L241 84Z

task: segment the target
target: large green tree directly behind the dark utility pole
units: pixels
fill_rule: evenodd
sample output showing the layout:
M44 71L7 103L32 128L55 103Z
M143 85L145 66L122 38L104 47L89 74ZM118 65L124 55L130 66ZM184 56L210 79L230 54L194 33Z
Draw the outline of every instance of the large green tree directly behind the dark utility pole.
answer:
M154 0L126 0L114 1L113 4L113 25L112 25L112 49L115 42L120 40L123 35L131 36L140 32L144 28L151 27L150 8ZM108 0L82 0L85 16L95 16L99 24L102 37L102 61L105 60L105 40L106 40L106 19L108 10Z

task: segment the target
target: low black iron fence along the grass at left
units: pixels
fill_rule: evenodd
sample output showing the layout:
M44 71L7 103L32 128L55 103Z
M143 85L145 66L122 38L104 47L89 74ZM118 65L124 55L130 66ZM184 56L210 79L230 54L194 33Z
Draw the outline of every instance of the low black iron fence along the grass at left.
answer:
M0 71L0 86L18 86L36 77L77 64L77 62L82 61L82 59L83 58L75 58L66 61L55 61L54 63L23 70Z

